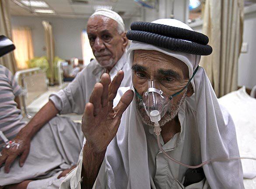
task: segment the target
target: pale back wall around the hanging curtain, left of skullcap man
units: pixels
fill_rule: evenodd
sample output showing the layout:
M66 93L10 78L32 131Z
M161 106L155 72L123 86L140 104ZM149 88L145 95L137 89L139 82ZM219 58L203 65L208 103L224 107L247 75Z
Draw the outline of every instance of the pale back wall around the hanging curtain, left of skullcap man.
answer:
M11 16L11 26L30 27L34 45L35 56L46 55L45 34L42 21L52 24L55 38L55 55L63 59L73 57L83 59L81 33L86 28L88 19L82 18L59 18L59 17L26 17ZM125 20L125 27L130 28L129 19Z

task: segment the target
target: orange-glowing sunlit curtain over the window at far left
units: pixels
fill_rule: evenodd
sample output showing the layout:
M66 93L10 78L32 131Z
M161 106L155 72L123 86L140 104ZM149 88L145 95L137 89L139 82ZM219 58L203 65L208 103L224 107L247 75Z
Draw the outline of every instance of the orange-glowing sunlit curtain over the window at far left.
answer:
M18 69L28 68L27 61L34 58L34 48L32 42L31 29L28 27L18 27L12 29L13 42L16 46L14 57Z

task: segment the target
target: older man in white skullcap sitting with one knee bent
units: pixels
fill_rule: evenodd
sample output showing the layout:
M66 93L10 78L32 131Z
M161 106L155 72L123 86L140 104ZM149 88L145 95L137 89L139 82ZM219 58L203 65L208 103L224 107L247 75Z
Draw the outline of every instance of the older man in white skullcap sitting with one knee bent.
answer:
M109 79L105 86L111 80L130 86L131 71L125 57L128 39L122 18L114 11L99 9L88 20L87 34L96 60L69 86L50 96L49 102L13 139L18 148L3 148L0 186L59 188L64 176L76 166L84 135L81 124L58 114L83 114L86 103L93 100L90 95L94 85L104 73Z

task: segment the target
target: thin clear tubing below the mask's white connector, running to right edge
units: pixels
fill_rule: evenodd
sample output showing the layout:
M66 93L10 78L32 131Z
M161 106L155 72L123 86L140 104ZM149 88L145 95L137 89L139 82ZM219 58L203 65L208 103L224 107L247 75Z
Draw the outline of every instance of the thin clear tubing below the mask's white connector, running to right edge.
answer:
M208 164L208 163L210 163L210 162L215 162L215 161L230 161L230 160L235 160L235 159L252 159L252 160L256 160L256 158L251 158L251 157L214 158L214 159L209 159L209 160L207 160L207 161L205 161L205 162L202 162L202 163L199 164L199 165L186 165L186 164L184 164L184 163L182 163L182 162L179 162L179 161L177 161L176 159L172 158L170 155L168 155L168 154L166 153L166 151L164 151L164 149L162 148L162 145L160 144L160 137L159 137L159 136L160 136L161 128L160 128L160 126L159 126L159 123L158 123L158 122L155 122L155 123L154 123L154 126L155 126L154 132L155 132L156 137L157 137L157 144L158 144L158 147L159 147L160 151L162 151L163 154L164 154L167 158L169 158L169 159L172 160L173 162L175 162L175 163L177 163L177 164L180 164L180 165L182 165L182 166L184 166L184 167L187 167L187 168L199 168L199 167L201 167L201 166L203 166L203 165L206 165L206 164Z

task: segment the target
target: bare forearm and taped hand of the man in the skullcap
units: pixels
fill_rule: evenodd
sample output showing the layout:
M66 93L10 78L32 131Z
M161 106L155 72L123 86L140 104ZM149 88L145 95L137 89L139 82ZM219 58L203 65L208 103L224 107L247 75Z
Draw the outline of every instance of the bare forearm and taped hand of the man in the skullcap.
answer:
M6 149L3 148L2 156L0 156L0 165L5 163L4 171L8 173L10 171L10 166L14 162L14 160L21 156L20 158L20 166L24 165L26 158L28 157L30 142L32 137L55 115L59 112L59 110L54 106L52 101L49 101L42 107L41 110L32 118L32 120L28 123L27 126L21 129L21 131L17 134L14 140L19 143L19 147Z

